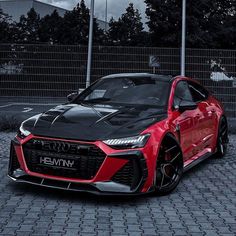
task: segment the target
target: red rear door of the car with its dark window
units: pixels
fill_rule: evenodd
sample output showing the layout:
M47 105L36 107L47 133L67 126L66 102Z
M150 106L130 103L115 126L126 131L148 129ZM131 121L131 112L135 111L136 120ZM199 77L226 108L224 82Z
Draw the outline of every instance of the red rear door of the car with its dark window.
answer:
M217 115L214 107L208 102L208 92L199 84L189 81L189 89L193 97L193 101L198 104L198 138L199 152L209 147L214 140L215 123Z

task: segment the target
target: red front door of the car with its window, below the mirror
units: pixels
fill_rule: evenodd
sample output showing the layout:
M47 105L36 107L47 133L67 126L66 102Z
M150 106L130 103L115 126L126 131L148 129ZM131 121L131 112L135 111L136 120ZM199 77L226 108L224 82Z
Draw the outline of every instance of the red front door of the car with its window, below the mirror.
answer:
M176 85L174 92L173 124L179 134L180 145L183 151L184 161L197 153L197 143L199 142L199 108L194 110L180 111L179 106L183 101L193 102L189 85L186 81L180 81Z

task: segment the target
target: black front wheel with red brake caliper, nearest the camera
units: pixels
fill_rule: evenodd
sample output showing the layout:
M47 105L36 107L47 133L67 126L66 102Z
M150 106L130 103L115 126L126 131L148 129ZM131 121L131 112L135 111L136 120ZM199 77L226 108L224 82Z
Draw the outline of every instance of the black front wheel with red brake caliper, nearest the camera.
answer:
M172 192L183 175L183 158L179 145L167 138L161 145L156 164L156 192L165 195Z

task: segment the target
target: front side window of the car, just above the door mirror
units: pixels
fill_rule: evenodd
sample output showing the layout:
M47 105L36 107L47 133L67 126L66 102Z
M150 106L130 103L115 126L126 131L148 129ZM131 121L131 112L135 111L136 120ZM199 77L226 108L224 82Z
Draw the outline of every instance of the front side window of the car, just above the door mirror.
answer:
M192 94L186 81L180 81L175 89L174 107L179 106L181 101L193 101Z

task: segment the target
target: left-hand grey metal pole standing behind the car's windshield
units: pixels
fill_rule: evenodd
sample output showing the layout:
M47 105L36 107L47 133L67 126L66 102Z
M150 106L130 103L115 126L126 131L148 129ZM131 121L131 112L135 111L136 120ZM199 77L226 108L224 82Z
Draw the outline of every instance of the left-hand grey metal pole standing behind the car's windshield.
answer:
M90 85L90 82L91 82L91 64L92 64L92 48L93 48L93 18L94 18L94 0L91 0L86 88Z

